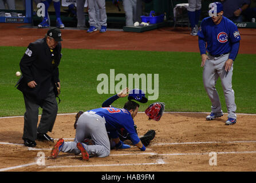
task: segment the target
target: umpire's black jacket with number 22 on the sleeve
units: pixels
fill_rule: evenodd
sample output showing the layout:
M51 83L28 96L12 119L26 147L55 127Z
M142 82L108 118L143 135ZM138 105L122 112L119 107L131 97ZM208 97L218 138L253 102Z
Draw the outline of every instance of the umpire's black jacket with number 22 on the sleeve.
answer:
M49 94L50 83L60 81L58 77L60 59L60 43L54 50L49 49L45 38L30 43L19 63L23 78L17 88L38 102L44 100ZM36 81L37 86L34 88L27 86L30 81Z

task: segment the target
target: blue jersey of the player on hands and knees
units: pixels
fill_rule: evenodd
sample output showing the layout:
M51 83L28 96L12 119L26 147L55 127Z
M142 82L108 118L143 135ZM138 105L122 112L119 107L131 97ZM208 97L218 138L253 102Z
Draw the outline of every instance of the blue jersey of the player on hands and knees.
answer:
M124 128L129 133L132 143L139 143L140 138L137 136L134 129L134 121L128 110L119 108L98 108L89 111L95 112L105 118L107 132L110 132L113 138L119 137L117 130Z

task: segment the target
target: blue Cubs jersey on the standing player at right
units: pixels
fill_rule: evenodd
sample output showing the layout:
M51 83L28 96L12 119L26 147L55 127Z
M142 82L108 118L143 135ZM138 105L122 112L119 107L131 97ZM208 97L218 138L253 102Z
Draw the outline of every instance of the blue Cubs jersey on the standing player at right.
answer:
M204 18L198 37L207 42L206 50L211 55L229 53L232 45L241 39L237 26L224 16L218 25L214 24L211 17ZM201 54L205 52L203 47L199 46L199 49Z

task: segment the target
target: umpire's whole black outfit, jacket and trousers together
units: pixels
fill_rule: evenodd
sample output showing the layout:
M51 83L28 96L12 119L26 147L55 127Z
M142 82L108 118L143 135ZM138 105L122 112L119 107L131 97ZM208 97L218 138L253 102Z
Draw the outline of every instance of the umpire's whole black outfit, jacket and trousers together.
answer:
M62 41L61 38L60 40ZM54 87L56 87L55 83L60 82L58 71L60 59L61 43L58 42L54 49L50 49L45 37L30 43L19 63L22 79L17 89L23 93L26 107L22 137L24 143L26 140L34 142L37 139L37 133L52 132L58 111ZM35 81L36 87L29 87L27 83L30 81ZM39 107L42 108L42 116L37 128ZM31 146L36 146L36 142Z

